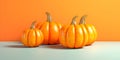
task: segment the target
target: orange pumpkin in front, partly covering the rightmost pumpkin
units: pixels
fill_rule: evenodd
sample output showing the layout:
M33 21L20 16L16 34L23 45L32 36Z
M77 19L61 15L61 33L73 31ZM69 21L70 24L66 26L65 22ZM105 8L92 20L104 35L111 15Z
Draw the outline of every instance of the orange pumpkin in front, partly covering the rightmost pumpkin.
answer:
M67 48L82 48L85 45L82 26L76 24L77 16L73 17L72 23L64 26L60 31L60 44Z

